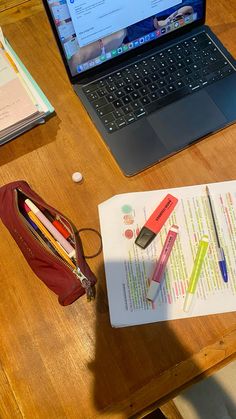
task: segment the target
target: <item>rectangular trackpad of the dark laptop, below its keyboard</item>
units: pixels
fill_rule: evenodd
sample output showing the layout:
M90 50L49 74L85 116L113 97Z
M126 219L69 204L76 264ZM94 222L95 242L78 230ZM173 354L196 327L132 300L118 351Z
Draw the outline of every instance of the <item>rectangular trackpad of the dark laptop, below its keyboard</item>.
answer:
M147 119L169 152L187 146L227 122L204 90L166 106Z

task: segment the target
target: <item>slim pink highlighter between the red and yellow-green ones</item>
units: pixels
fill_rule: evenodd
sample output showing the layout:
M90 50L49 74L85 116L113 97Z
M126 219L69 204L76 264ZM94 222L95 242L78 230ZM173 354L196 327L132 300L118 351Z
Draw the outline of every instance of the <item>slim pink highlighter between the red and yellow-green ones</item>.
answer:
M153 273L150 287L148 289L148 293L147 293L148 300L154 301L156 298L157 291L160 286L161 280L163 278L164 270L166 268L166 264L168 262L171 250L173 248L175 239L178 234L178 230L179 230L178 226L172 225L168 231L164 246L162 248L160 257L158 259L155 271Z

